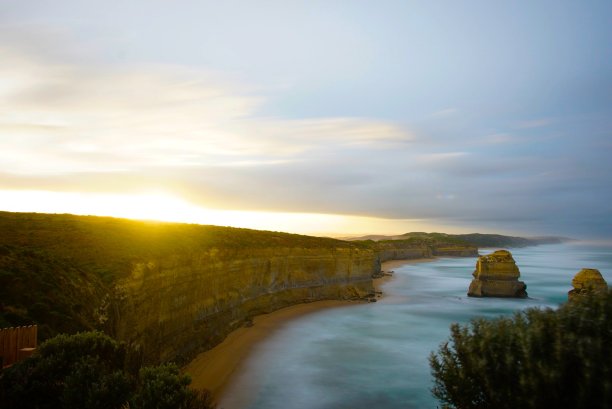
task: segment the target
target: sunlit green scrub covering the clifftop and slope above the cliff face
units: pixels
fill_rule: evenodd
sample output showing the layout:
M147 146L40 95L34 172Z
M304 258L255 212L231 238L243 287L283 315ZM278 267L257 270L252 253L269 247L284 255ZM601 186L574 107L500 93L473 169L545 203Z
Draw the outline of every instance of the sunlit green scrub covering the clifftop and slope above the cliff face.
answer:
M39 336L100 329L103 305L134 264L214 250L231 259L263 248L364 248L270 231L110 217L0 212L0 327L39 325Z

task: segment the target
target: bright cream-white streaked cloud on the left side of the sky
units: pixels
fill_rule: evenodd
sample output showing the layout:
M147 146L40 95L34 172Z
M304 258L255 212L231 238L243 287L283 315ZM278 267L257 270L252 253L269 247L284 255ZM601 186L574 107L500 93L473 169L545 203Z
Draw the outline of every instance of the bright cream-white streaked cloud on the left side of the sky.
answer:
M2 47L0 161L13 174L260 166L403 143L386 121L257 117L261 98L176 66L89 66Z

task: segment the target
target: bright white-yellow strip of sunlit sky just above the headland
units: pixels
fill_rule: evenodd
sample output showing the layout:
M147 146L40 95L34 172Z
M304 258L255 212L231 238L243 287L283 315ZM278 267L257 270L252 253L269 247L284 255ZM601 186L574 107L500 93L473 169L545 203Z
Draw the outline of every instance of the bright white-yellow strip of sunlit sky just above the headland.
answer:
M431 230L431 226L421 220L210 209L166 192L111 194L0 190L0 211L111 216L333 236Z

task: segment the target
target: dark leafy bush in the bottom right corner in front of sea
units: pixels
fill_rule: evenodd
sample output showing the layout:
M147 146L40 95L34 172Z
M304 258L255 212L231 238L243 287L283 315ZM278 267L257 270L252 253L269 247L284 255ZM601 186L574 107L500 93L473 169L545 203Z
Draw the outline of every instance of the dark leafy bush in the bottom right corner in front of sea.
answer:
M612 291L451 326L430 356L443 408L612 406Z

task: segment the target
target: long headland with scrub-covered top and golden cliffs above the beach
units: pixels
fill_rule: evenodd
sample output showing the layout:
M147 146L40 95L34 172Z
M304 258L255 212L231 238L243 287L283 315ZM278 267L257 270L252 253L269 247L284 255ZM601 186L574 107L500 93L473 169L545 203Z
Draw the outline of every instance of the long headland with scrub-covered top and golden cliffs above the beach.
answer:
M101 329L147 362L184 361L255 315L361 299L387 260L476 256L434 237L347 242L108 217L0 212L0 326Z

